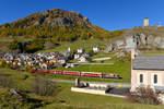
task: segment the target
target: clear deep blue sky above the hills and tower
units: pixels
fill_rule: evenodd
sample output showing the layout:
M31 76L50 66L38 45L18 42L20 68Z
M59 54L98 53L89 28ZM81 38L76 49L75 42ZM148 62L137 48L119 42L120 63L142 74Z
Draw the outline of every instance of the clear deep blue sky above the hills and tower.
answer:
M164 0L1 0L0 24L47 9L80 12L108 31L141 26L144 17L164 25Z

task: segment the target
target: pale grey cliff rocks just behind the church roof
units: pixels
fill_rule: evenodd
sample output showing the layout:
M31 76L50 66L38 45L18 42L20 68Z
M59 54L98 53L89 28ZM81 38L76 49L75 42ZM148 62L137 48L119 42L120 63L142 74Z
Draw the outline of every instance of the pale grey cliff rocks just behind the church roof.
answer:
M130 51L134 46L138 49L141 48L159 48L164 49L164 37L157 35L148 35L145 33L137 33L133 35L127 35L121 39L118 39L110 45L106 46L105 52L114 50Z

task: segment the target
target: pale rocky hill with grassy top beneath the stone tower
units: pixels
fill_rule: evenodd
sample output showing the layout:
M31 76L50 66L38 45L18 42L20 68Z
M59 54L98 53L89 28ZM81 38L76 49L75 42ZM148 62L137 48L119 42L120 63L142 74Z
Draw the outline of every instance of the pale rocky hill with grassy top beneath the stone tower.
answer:
M118 49L130 51L131 46L138 49L164 49L164 27L138 26L114 39L107 45L106 52Z

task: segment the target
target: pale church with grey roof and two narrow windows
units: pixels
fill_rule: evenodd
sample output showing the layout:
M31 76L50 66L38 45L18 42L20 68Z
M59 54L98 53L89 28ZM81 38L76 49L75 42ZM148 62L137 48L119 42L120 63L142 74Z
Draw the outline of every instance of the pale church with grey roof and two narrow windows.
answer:
M164 55L136 55L131 50L131 90L139 86L150 86L164 90Z

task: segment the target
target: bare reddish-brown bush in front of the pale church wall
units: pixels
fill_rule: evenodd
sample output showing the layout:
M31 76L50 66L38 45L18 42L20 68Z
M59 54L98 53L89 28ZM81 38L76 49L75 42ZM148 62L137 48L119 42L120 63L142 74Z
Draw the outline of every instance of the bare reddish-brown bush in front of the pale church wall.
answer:
M149 104L149 105L160 105L162 104L160 99L160 92L155 92L150 86L137 87L134 92L131 92L127 99L131 102Z

